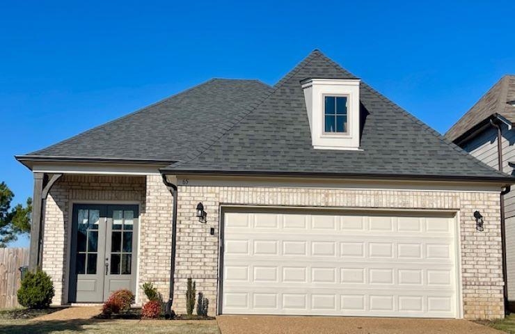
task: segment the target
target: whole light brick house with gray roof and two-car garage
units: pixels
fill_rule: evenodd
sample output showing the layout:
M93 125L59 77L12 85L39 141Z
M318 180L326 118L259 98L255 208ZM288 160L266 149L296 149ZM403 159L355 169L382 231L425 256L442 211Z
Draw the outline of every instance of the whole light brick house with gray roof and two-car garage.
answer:
M184 312L193 278L211 314L504 316L514 178L317 50L275 86L213 79L17 159L56 304L152 282Z

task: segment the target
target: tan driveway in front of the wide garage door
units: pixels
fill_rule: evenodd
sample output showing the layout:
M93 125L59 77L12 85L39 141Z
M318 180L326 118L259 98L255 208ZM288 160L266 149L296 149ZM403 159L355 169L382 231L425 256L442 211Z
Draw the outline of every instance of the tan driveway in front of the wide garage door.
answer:
M501 334L504 332L455 319L283 317L221 315L222 334ZM504 333L505 334L505 333Z

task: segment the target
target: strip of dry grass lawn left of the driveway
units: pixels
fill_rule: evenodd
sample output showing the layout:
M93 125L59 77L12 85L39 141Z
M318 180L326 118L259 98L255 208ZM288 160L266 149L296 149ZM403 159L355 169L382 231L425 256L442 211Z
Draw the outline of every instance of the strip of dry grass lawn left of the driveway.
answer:
M166 321L166 320L51 320L30 321L26 319L0 320L0 333L8 334L220 334L216 321Z

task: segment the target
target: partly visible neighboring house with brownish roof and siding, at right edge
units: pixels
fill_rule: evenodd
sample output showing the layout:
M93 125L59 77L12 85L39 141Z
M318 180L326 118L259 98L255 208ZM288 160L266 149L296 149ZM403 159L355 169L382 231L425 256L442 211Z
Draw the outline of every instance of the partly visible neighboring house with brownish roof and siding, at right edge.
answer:
M515 75L506 75L447 131L445 137L492 168L514 175L514 121ZM505 301L515 310L515 191L503 194L500 205L501 229L505 236Z

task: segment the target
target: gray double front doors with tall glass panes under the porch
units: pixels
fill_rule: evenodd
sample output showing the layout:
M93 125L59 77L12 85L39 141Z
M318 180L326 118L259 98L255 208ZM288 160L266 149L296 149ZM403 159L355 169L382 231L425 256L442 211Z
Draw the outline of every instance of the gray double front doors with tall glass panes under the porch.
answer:
M105 301L136 289L137 205L74 205L69 299Z

